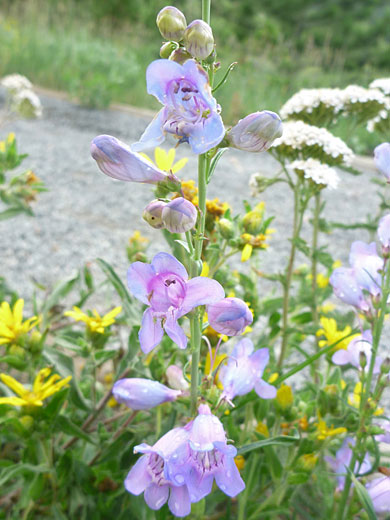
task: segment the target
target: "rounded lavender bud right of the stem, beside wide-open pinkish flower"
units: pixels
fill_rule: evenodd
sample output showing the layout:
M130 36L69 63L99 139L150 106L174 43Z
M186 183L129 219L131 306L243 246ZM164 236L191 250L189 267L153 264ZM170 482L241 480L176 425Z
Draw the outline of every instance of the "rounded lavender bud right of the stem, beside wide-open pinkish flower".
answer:
M207 307L210 326L226 336L239 336L253 321L248 305L239 298L224 298Z

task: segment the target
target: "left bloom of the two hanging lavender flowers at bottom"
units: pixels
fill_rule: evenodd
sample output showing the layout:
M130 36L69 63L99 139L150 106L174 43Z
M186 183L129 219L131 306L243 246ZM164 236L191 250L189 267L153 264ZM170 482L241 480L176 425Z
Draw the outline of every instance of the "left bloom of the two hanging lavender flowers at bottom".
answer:
M168 507L175 516L191 512L191 501L186 485L176 485L167 478L166 463L178 446L187 442L188 433L175 428L166 433L154 446L140 444L134 448L144 455L132 467L125 480L125 488L133 495L144 493L147 505L160 509L168 500Z

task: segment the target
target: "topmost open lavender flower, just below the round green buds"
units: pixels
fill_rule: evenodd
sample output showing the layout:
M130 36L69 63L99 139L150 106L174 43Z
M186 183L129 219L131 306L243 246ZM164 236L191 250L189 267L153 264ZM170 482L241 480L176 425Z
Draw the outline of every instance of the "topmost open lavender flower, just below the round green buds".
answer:
M165 134L176 135L180 142L188 142L196 154L217 146L225 129L218 105L211 94L208 76L194 60L183 65L171 60L153 61L146 71L149 94L164 108L147 127L135 152L159 146Z

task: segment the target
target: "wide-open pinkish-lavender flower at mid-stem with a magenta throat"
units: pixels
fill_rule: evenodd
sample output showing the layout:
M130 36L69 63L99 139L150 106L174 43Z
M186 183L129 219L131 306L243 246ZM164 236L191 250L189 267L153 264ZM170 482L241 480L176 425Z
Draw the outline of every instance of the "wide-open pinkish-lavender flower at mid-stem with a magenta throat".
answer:
M184 265L168 253L158 253L151 264L131 264L127 284L133 296L149 305L139 331L145 354L160 343L164 330L179 348L186 348L187 337L177 320L199 305L221 300L225 294L216 280L203 276L188 280Z

